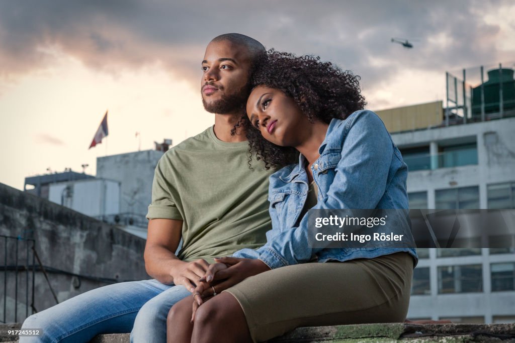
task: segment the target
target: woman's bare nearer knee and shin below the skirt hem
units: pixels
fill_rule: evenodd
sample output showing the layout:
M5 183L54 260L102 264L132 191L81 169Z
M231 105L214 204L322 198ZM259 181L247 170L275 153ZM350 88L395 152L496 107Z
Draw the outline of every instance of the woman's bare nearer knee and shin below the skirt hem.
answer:
M242 307L227 292L216 295L198 308L191 339L192 343L220 341L252 342Z

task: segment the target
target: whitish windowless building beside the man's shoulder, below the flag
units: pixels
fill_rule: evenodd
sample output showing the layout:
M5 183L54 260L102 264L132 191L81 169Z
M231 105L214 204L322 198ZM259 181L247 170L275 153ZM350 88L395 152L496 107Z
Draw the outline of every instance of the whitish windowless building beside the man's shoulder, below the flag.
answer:
M154 171L169 145L165 140L156 150L97 157L96 176L66 170L26 177L24 189L146 239Z

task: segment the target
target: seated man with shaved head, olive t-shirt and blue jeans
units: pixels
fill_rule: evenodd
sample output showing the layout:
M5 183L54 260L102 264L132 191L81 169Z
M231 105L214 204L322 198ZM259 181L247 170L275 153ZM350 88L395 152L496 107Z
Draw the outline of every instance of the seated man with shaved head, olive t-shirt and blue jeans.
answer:
M131 342L165 342L168 310L191 294L213 257L266 242L272 170L262 163L249 168L245 133L231 135L264 54L261 43L237 33L216 37L205 51L202 102L215 125L167 151L156 167L144 256L155 279L100 287L32 315L23 328L43 335L21 343L88 342L130 331Z

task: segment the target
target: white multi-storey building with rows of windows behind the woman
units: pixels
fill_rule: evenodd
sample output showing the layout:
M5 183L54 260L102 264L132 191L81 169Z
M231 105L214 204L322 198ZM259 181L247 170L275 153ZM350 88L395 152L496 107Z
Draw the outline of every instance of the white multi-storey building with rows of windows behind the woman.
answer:
M450 112L446 122L439 101L377 114L408 165L410 208L515 208L514 110ZM510 239L511 248L419 249L408 318L515 322Z

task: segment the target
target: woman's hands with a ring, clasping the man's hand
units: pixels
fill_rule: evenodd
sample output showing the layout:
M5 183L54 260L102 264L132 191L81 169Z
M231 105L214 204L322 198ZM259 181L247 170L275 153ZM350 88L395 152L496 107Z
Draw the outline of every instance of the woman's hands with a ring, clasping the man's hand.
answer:
M246 278L270 270L270 267L258 259L242 259L236 257L215 258L205 275L198 282L193 293L193 315L204 301L216 294L238 284Z

